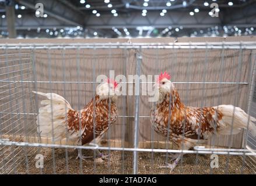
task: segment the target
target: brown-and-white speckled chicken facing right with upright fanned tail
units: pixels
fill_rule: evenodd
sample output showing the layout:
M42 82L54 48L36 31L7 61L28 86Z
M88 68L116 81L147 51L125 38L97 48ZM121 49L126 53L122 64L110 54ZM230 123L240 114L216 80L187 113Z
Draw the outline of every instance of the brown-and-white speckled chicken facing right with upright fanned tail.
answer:
M96 95L82 110L72 109L68 101L58 94L33 91L47 98L41 101L42 106L38 110L38 133L41 137L52 137L52 141L68 138L68 141L78 145L91 145L93 140L96 141L93 144L98 144L103 134L117 120L117 86L110 79L98 85ZM82 156L80 151L78 158L89 157Z

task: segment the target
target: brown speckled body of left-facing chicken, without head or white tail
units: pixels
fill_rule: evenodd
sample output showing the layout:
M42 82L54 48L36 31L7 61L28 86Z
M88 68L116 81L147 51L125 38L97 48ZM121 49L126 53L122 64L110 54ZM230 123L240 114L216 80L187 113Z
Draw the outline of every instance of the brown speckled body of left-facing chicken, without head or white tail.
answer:
M176 90L172 92L171 99L170 94L167 94L163 102L157 103L150 112L155 131L165 137L169 134L169 139L177 145L183 135L193 140L197 140L199 135L199 140L206 140L218 129L218 119L221 117L221 113L216 113L214 108L186 107L180 101Z

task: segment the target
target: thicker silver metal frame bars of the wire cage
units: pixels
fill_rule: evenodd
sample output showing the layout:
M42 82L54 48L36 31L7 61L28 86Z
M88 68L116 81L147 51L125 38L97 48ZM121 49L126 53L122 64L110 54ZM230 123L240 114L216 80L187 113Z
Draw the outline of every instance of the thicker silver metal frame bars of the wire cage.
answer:
M84 48L90 48L90 49L115 49L115 48L122 48L122 49L143 49L143 48L152 48L152 49L256 49L256 42L170 42L170 43L121 43L121 44L114 44L114 43L71 43L71 44L63 44L61 42L57 44L0 44L1 49L31 49L34 51L35 49L84 49ZM32 55L33 59L33 65L35 63L34 55ZM140 65L141 65L141 56L137 56L136 60L136 73L140 74ZM254 55L253 61L253 69L251 69L251 81L250 83L246 82L229 82L227 84L248 84L248 91L250 92L248 96L248 103L250 103L250 100L253 99L253 87L254 87L254 81L253 78L255 78L255 63L256 63L256 57ZM35 76L36 71L33 66L33 76ZM34 83L36 86L36 83L38 82L36 80L36 77L34 77L34 82L29 81L22 81L23 83ZM16 83L16 81L13 81L12 83ZM40 83L50 83L49 82L40 82ZM52 82L51 82L52 83ZM88 84L97 84L99 82L96 81L80 81L80 82L60 82L56 81L54 83L88 83ZM126 82L127 84L131 82ZM153 83L153 82L149 82ZM173 82L173 83L188 83L188 82ZM195 84L200 82L193 82ZM208 82L209 84L218 84L218 82ZM219 84L222 84L224 82L219 82ZM206 82L202 82L202 84L206 84ZM136 112L135 116L121 116L121 117L134 117L135 118L135 129L138 128L138 122L141 117L148 117L148 116L140 116L139 115L139 96L135 97L136 101ZM37 102L37 101L36 101ZM248 110L250 109L250 105L248 105ZM248 111L247 110L247 111ZM33 114L33 113L24 113L26 114ZM120 117L120 116L119 116ZM136 127L137 126L137 127ZM245 140L247 137L247 134L244 134L244 144L247 146L247 140ZM137 160L138 160L138 152L166 152L166 153L217 153L217 154L225 154L225 155L246 155L251 156L255 155L255 152L252 149L209 149L209 148L201 148L196 147L195 150L174 150L174 149L147 149L147 148L139 148L138 147L138 131L135 130L134 132L134 147L133 148L117 148L117 147L103 147L103 146L72 146L72 145L60 145L60 144L40 144L36 142L15 142L15 141L8 141L8 140L0 140L0 145L9 145L9 146L37 146L37 147L50 147L50 148L78 148L78 149L101 149L101 150L108 150L108 151L132 151L134 152L134 174L138 173L138 167L137 167Z

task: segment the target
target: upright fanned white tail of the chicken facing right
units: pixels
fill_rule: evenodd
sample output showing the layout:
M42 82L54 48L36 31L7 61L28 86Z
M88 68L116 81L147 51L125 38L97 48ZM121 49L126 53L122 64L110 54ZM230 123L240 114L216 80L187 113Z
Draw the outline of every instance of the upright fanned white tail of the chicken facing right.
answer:
M62 140L66 134L66 112L72 109L68 101L58 94L33 92L47 98L41 101L41 107L38 109L38 133L42 137L52 137L53 135L54 140Z

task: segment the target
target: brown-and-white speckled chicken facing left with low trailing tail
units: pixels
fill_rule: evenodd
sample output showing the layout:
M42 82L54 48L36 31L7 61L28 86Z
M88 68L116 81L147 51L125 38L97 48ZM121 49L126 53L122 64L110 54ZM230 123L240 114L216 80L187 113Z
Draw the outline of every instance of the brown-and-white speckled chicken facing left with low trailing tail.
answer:
M153 129L167 137L178 149L188 150L198 144L206 144L212 134L238 134L247 128L255 136L256 119L233 105L219 105L197 108L185 106L170 75L161 73L155 83L157 102L150 110ZM156 97L156 96L155 96ZM175 160L174 160L175 159ZM172 171L181 159L181 153L174 155L174 162L167 166Z

